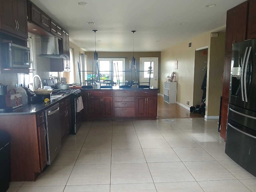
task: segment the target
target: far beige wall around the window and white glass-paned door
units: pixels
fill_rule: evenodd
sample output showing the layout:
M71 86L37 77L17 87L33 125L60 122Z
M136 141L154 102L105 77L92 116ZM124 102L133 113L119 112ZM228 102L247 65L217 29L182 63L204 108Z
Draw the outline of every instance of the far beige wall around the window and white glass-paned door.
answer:
M87 56L87 70L92 70L92 62L94 62L94 52L85 52ZM132 59L132 52L98 52L98 58L125 58L125 70L129 70L129 61ZM136 61L139 62L141 57L158 57L158 88L160 87L160 63L161 52L134 52ZM95 69L94 69L95 70ZM130 74L126 73L126 80L130 81ZM132 74L132 80L135 80Z

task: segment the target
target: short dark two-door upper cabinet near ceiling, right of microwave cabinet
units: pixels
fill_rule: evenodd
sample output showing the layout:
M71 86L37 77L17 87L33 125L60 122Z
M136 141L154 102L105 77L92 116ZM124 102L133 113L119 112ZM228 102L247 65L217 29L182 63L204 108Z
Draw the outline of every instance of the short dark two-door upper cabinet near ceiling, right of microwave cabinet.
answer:
M32 2L28 2L28 19L47 31L51 31L50 17Z

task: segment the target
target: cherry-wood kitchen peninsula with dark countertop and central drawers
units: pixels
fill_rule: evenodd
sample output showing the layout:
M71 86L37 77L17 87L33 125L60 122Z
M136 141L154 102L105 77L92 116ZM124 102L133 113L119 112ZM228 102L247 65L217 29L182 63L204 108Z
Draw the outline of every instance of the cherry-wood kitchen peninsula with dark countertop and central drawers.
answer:
M122 120L150 119L157 116L158 89L113 88L82 89L83 119Z

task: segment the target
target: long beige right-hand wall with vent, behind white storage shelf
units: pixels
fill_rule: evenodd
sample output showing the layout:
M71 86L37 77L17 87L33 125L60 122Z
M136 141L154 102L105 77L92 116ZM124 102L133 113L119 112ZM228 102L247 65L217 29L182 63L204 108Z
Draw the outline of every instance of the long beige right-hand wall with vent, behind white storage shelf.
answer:
M188 48L188 42L183 42L161 52L161 86L160 93L164 94L164 81L167 80L168 74L173 71L176 73L178 82L177 102L190 107L193 104L194 92L194 67L195 67L195 50L208 46L208 60L210 51L210 35L208 32L196 38L192 38L192 48ZM174 69L174 61L178 60L178 69ZM186 101L190 101L190 105Z

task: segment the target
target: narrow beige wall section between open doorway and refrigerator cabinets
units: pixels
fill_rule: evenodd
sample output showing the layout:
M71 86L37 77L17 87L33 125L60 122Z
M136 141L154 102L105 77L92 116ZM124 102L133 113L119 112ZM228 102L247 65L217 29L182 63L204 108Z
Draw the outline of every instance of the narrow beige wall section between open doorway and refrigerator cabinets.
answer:
M206 116L219 116L220 96L222 96L222 72L225 61L226 32L219 32L218 38L211 38L210 62L208 63L208 82L206 90Z

